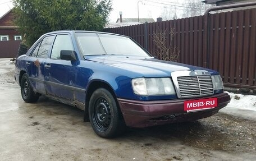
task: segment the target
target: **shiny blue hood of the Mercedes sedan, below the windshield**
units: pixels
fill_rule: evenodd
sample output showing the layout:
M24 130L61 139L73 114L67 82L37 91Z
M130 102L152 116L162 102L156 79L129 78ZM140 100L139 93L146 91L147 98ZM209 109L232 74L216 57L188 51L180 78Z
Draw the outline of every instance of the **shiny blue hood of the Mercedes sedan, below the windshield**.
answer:
M141 73L144 76L170 76L171 72L184 70L206 70L212 75L218 72L209 70L207 68L185 65L171 61L161 61L155 58L141 58L141 57L116 57L116 56L102 56L86 58L89 61L104 63L105 65L122 68L129 72Z

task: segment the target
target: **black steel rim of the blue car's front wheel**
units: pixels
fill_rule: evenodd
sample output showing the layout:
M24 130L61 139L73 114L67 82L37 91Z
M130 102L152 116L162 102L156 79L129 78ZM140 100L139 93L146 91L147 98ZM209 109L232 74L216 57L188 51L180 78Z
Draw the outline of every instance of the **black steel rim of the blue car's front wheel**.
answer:
M100 96L94 103L93 122L99 131L106 131L111 123L109 103L103 96Z

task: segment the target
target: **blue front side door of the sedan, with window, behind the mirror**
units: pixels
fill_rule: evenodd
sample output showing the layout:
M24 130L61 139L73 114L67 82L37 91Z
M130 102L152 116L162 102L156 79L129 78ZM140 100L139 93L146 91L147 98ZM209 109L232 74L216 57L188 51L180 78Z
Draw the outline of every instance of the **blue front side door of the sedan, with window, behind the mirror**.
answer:
M61 50L74 50L69 34L56 36L51 56L44 63L45 90L48 95L74 100L74 89L78 74L76 70L77 61L61 59Z

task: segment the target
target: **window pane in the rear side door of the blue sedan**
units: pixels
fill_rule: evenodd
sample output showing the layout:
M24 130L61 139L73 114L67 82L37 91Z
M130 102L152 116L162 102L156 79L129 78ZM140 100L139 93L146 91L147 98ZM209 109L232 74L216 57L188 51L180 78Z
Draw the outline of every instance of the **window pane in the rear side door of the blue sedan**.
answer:
M51 44L53 42L53 39L54 39L54 36L47 36L43 39L36 57L47 58L49 50L51 49Z

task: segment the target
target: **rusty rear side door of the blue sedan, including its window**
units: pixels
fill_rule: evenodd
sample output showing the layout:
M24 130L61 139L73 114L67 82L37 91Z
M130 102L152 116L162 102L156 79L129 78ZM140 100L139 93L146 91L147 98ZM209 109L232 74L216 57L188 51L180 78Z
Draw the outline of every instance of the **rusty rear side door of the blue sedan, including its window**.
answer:
M38 93L45 94L44 62L48 58L54 35L45 36L34 48L26 61L26 67L31 85Z

